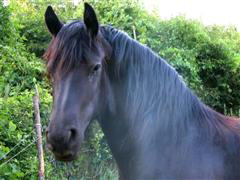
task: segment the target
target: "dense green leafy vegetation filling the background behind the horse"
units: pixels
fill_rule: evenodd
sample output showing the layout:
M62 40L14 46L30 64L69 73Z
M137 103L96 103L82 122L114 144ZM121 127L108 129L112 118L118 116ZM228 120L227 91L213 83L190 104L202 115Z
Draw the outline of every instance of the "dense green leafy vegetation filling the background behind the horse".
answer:
M135 38L172 64L207 105L239 116L240 33L235 27L204 26L184 16L161 20L146 12L140 0L88 2L102 24L111 24L132 37L136 29ZM4 7L0 1L0 180L37 179L32 96L37 84L45 133L52 97L41 57L51 40L44 23L49 4L63 22L82 19L82 2L11 0ZM74 163L55 162L45 139L44 153L46 179L118 177L97 123L88 129L81 156Z

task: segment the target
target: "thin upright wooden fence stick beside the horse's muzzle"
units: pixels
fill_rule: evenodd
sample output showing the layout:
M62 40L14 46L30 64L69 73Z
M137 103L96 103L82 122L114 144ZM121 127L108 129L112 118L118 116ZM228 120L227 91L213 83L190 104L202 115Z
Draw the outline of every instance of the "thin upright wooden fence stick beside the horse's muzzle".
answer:
M43 148L42 148L42 128L39 110L39 95L38 89L35 85L35 92L33 96L34 116L35 116L35 127L37 133L37 149L38 149L38 179L44 180L44 159L43 159Z

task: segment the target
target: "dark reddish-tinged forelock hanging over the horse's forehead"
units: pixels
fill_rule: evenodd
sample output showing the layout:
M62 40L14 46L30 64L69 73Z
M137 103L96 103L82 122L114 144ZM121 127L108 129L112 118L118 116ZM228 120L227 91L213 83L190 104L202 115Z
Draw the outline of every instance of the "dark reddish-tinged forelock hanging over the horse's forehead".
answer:
M86 53L90 52L90 39L81 21L65 25L56 37L53 37L44 53L47 69L54 72L66 73L83 63Z

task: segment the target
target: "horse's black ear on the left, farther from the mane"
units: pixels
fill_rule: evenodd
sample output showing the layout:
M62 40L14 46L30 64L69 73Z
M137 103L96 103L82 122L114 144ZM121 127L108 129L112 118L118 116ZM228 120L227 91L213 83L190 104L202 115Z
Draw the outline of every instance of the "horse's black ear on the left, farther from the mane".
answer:
M53 36L56 36L63 26L51 6L48 6L45 12L45 22L47 24L49 32Z

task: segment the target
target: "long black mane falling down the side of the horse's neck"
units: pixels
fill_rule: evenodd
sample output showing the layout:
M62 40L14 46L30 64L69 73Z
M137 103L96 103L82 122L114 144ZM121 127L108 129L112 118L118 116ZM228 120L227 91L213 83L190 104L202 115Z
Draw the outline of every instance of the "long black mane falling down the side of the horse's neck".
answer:
M110 26L102 27L102 33L113 47L111 59L116 74L121 71L128 77L125 102L132 116L141 114L146 124L161 126L161 130L178 125L180 133L188 131L188 124L195 123L210 139L232 130L239 134L233 118L226 118L202 103L176 70L150 48ZM158 122L149 122L148 115L155 115L149 119L159 117Z

